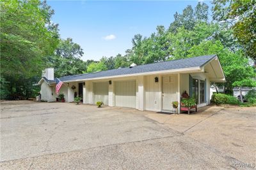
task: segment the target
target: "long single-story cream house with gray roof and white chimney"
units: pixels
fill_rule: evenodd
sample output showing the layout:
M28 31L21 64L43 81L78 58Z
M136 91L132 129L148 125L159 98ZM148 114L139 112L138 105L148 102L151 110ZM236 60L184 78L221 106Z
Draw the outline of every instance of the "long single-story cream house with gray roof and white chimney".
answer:
M217 55L156 62L95 73L77 74L59 78L60 92L67 102L81 96L84 104L102 101L108 106L136 108L137 110L173 111L172 102L180 103L186 91L198 107L210 103L210 83L224 82L225 76ZM56 99L54 69L46 69L38 83L41 99Z

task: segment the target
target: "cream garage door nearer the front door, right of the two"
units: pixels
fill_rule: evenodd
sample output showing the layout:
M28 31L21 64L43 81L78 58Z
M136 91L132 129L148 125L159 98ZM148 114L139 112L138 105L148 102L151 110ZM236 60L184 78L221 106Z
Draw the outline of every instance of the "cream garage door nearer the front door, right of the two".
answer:
M136 81L115 82L115 106L136 108Z

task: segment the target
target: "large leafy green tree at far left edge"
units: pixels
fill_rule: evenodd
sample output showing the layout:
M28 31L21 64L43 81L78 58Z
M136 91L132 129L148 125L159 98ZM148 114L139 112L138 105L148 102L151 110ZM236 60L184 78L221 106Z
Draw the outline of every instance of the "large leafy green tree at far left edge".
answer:
M10 84L11 96L25 91L28 96L26 82L35 83L46 56L54 53L59 42L58 25L51 22L54 11L40 0L3 0L0 4L1 79Z

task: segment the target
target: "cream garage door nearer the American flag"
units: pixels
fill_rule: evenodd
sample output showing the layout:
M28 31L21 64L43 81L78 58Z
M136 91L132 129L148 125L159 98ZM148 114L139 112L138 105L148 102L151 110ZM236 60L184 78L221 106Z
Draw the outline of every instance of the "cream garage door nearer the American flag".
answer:
M97 101L108 105L108 81L93 83L93 103Z

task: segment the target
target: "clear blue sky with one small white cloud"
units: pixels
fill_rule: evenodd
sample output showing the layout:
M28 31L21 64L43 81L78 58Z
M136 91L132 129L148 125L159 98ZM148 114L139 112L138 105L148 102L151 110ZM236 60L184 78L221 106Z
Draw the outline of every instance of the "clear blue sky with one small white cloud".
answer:
M204 1L210 5L209 1ZM150 36L157 25L168 27L175 11L198 1L47 1L61 38L72 38L84 50L83 60L125 53L135 34Z

